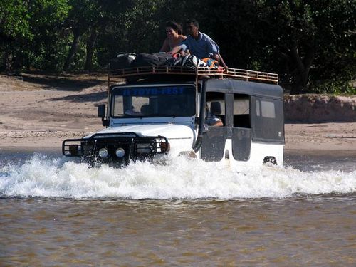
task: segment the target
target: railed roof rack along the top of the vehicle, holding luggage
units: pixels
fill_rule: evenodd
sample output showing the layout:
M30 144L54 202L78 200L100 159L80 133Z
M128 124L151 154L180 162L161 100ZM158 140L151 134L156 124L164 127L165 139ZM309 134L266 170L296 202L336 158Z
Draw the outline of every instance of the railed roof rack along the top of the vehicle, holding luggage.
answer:
M193 67L186 66L150 66L140 68L123 68L119 70L109 70L108 84L110 80L138 76L142 78L145 75L192 75L194 78L233 78L236 80L251 80L259 83L278 84L278 74L264 73L254 70L242 70L238 68L209 68L209 67Z

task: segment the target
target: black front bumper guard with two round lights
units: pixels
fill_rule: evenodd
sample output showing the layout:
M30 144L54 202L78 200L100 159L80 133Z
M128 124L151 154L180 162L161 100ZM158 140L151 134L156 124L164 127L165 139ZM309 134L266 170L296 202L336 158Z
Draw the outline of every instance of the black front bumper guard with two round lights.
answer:
M107 157L100 157L99 151L102 149L108 152ZM123 150L124 155L117 153L117 150ZM95 134L89 138L67 139L62 143L62 152L66 157L81 157L97 162L127 164L130 160L152 159L168 151L169 142L166 137L140 137L135 132Z

